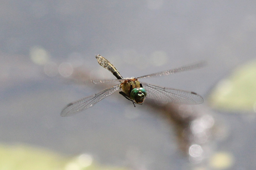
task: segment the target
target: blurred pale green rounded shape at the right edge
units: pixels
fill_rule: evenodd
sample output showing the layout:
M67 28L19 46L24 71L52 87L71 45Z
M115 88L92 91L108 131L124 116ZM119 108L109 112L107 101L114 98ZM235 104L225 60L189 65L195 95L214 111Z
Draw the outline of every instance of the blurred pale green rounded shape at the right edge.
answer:
M237 66L213 88L210 105L226 112L256 113L255 77L255 60Z

